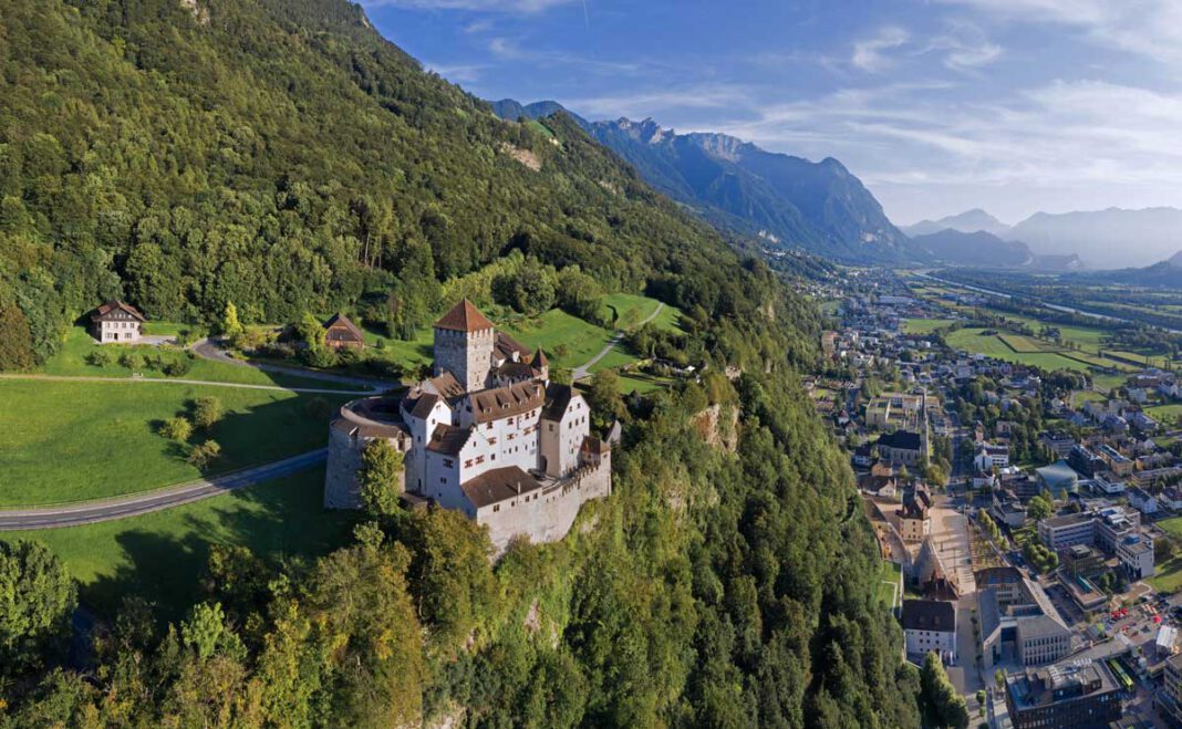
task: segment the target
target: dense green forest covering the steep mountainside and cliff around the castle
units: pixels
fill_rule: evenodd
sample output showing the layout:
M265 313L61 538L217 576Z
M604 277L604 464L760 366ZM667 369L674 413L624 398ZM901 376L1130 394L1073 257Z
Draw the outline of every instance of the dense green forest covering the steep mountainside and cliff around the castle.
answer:
M4 547L0 725L920 724L794 375L818 314L569 119L495 119L343 0L12 0L0 63L0 365L111 295L426 320L518 249L680 306L715 372L595 397L626 422L615 495L495 564L457 513L374 509L314 564L215 548L183 620L129 599L66 660L72 581ZM709 404L741 414L733 453Z

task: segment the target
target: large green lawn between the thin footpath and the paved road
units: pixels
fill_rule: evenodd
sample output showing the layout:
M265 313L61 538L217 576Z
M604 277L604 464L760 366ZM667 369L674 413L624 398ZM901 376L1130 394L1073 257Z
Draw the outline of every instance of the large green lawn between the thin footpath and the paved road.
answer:
M349 399L163 383L0 380L0 506L83 501L201 476L156 428L204 395L226 406L208 434L222 457L207 474L323 447L329 414Z

